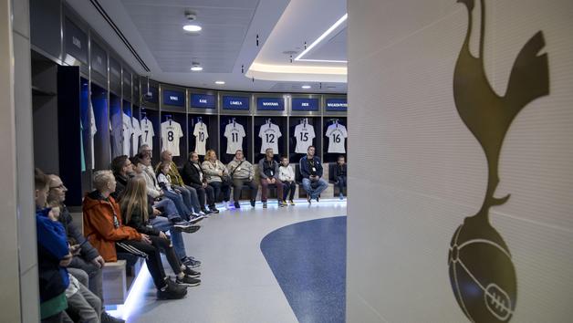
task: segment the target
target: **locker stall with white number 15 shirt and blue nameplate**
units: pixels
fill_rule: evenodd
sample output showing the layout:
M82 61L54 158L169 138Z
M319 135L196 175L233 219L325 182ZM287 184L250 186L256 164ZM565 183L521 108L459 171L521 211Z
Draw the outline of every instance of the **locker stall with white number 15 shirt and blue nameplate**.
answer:
M322 152L322 96L296 94L290 100L288 118L288 158L298 163L307 154L310 146L321 157Z

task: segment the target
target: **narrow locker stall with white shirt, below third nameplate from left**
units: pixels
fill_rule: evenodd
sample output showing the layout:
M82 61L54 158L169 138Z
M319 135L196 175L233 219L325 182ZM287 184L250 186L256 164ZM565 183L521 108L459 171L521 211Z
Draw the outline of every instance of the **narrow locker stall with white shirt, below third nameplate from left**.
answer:
M111 118L111 159L130 155L131 109L123 109L120 60L109 54L109 114Z

